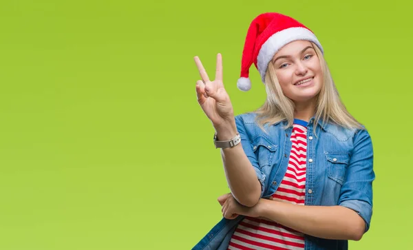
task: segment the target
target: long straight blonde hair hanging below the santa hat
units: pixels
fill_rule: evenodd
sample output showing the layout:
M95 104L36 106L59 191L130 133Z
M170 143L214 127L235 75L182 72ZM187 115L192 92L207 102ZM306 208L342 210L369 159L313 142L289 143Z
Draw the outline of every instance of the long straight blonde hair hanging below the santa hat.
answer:
M324 56L314 43L312 43L315 52L319 58L321 71L323 72L323 82L321 91L317 95L316 111L314 116L314 127L321 121L322 124L335 123L349 129L363 129L359 123L347 110L342 103L337 88ZM257 124L264 130L264 125L273 125L280 121L287 121L286 127L293 125L295 105L293 101L284 95L279 85L273 63L268 63L268 69L265 76L265 88L267 98L257 113ZM264 130L265 131L265 130Z

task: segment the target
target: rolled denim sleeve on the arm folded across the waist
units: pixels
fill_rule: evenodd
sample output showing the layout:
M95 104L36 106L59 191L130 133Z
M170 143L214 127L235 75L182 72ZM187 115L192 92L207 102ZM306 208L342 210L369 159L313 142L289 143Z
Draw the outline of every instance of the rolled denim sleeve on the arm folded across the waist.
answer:
M367 130L359 130L354 135L354 149L350 157L346 180L341 187L339 205L356 211L366 222L365 232L372 218L373 193L372 140Z

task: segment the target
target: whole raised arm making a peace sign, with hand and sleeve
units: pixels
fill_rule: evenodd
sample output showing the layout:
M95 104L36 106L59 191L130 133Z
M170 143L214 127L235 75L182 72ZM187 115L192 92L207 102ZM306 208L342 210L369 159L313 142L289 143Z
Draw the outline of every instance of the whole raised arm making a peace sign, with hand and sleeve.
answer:
M238 127L238 125L242 126L242 123L237 122L235 124L234 121L236 118L233 115L233 107L222 83L222 56L221 54L217 55L214 81L209 80L209 76L198 56L195 56L194 60L202 78L202 81L198 80L196 84L198 103L215 127L218 140L231 140L237 129L240 132L240 144L242 145L222 149L222 160L224 161L226 180L231 192L242 205L252 207L260 200L260 194L264 190L262 187L264 175L260 169L253 167L248 161L248 158L255 159L255 157L254 154L251 154L252 150L248 136L242 132L242 127ZM243 152L242 149L249 151ZM258 174L260 181L257 180L255 172Z

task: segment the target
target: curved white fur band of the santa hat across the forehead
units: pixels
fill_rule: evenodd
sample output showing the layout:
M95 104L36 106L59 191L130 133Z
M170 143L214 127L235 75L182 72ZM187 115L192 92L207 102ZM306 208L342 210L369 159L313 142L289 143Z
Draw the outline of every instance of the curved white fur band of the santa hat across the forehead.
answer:
M262 45L260 52L258 52L257 56L257 68L260 72L263 83L265 82L265 73L268 67L268 63L271 62L271 60L273 60L275 53L277 53L277 51L287 43L297 40L312 41L319 47L321 52L323 52L321 43L318 41L317 37L315 37L315 34L313 34L313 32L310 32L310 30L306 28L288 28L286 30L282 30L273 34Z

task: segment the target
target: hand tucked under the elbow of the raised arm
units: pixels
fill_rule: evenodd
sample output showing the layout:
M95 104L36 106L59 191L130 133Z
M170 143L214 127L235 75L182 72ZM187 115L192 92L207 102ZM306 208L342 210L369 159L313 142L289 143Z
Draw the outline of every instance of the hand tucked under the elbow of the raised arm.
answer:
M246 207L241 205L237 200L235 200L234 196L229 194L224 194L218 197L218 202L222 206L222 216L224 218L233 220L237 218L239 215L242 216L249 216L249 217L258 217L257 207L258 204L254 207Z

